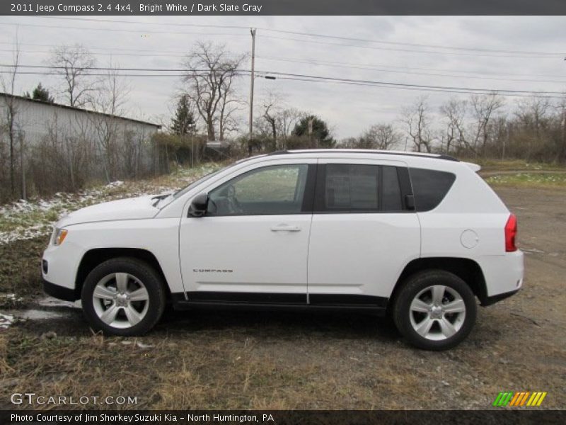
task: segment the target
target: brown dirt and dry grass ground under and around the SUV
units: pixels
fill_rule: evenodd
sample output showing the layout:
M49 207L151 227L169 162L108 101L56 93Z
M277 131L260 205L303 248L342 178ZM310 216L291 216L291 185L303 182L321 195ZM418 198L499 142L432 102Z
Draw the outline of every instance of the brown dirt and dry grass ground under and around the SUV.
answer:
M468 339L440 353L363 314L168 312L144 338L105 338L76 308L29 301L46 238L0 246L0 271L26 256L0 283L23 300L0 311L52 313L0 330L0 408L35 392L137 397L86 406L100 409L486 409L500 391L545 391L541 408L564 409L566 191L495 189L519 219L524 288L480 307Z

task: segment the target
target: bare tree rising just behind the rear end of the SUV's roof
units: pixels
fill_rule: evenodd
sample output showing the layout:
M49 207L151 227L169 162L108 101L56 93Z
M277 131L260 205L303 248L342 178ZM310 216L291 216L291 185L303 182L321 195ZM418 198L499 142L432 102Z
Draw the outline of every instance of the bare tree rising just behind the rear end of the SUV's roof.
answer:
M430 123L430 112L427 97L417 98L411 106L403 108L401 111L401 121L405 124L405 131L413 142L416 152L432 151L432 129Z

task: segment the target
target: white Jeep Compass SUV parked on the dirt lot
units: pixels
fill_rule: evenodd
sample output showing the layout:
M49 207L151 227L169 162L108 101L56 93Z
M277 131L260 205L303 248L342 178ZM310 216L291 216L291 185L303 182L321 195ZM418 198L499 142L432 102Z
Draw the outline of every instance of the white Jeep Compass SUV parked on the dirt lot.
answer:
M175 309L389 314L414 346L456 346L477 304L523 283L517 223L446 155L260 155L176 193L93 205L55 226L45 292L96 330L140 335Z

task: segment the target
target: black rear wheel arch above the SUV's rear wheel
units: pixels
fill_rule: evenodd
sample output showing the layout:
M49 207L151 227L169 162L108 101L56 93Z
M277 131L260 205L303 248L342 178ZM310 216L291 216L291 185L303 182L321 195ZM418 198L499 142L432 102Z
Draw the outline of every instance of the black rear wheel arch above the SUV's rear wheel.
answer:
M483 276L482 268L476 261L460 257L425 257L414 259L403 268L403 271L393 287L391 297L389 297L388 310L391 310L391 307L394 305L395 297L399 293L400 288L403 287L403 283L407 278L420 271L432 269L454 273L458 278L466 282L475 297L477 297L482 304L487 299L485 277Z

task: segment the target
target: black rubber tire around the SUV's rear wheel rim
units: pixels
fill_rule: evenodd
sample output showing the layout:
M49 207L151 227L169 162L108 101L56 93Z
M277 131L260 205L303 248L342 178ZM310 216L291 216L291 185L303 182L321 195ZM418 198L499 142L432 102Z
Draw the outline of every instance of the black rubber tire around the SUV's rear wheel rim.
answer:
M461 322L461 327L454 335L441 340L432 340L420 335L411 323L411 314L415 314L410 311L412 301L419 293L421 293L421 291L433 285L444 285L451 288L451 290L456 291L456 293L461 296L464 305L466 306L465 317L463 318L463 322ZM441 351L452 348L466 339L466 336L470 334L470 331L475 324L477 311L478 307L475 302L475 297L466 282L448 271L427 270L416 273L403 282L403 286L395 297L393 305L393 320L400 333L403 334L403 336L405 336L405 338L413 346L423 348L425 350ZM430 315L427 317L430 317ZM433 319L433 322L437 322L437 324L433 324L432 326L436 326L438 331L441 333L439 324L440 320L441 319ZM431 329L434 330L433 328Z

